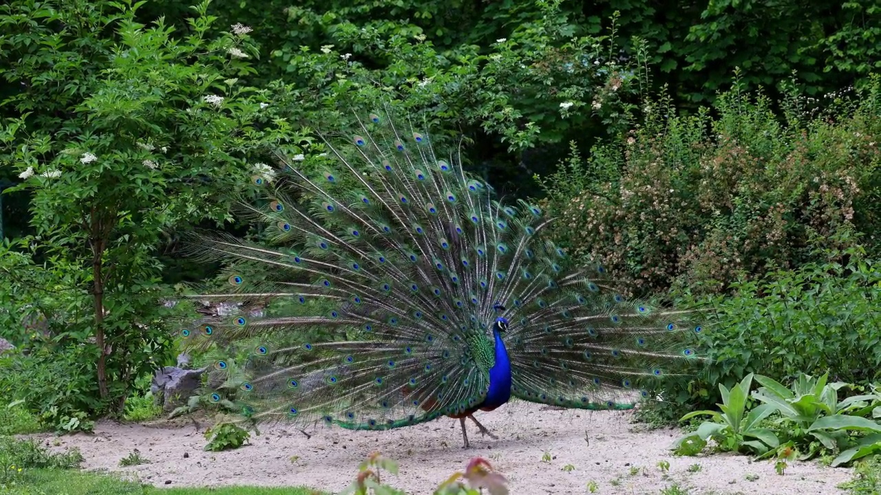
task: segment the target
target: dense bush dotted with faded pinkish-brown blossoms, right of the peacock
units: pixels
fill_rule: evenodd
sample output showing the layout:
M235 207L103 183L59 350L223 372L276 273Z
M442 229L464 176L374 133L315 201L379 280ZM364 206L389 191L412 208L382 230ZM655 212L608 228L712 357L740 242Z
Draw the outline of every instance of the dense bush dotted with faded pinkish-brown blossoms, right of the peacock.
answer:
M881 86L785 115L737 81L713 111L648 102L633 132L544 181L559 240L637 292L724 291L742 272L815 259L811 238L881 226ZM715 115L714 115L715 114ZM849 241L848 241L849 242Z

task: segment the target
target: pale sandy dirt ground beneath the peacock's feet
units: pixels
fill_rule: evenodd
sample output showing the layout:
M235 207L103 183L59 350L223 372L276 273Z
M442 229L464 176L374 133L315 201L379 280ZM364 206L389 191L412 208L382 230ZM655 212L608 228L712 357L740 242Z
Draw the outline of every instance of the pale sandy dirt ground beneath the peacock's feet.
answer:
M93 434L41 438L55 449L78 447L86 469L122 471L160 487L308 485L342 491L352 483L359 462L376 450L400 463L400 474L384 479L418 494L431 493L478 455L508 478L513 494L587 493L591 482L601 494L658 494L673 484L690 495L833 494L841 493L837 485L852 477L851 469L813 462L796 462L779 476L774 462L751 462L745 456L677 457L669 447L680 432L645 431L631 423L632 415L508 404L478 415L499 440L481 437L469 422L468 450L458 421L449 418L389 432L317 427L307 429L311 438L289 425L274 425L252 437L250 445L220 453L203 450L207 424L104 422ZM149 462L120 468L120 460L136 448ZM661 461L670 462L669 472L658 467Z

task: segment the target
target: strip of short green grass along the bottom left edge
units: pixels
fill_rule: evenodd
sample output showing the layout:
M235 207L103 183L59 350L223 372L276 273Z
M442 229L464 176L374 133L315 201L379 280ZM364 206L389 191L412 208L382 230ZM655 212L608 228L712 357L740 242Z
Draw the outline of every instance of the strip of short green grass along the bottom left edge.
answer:
M10 495L321 495L311 488L154 488L113 475L63 469L30 469L19 483L8 487Z

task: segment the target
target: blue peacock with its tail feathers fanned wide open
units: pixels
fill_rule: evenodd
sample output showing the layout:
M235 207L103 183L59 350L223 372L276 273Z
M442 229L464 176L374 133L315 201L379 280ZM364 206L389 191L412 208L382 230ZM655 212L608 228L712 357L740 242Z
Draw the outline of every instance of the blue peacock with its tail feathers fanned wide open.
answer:
M537 205L501 202L410 120L353 122L322 134L327 153L276 153L278 167L251 177L265 201L241 210L264 243L190 242L229 267L226 289L193 297L267 308L182 330L213 352L211 403L242 421L351 430L452 417L467 448L466 419L497 438L478 410L631 409L687 373L699 312L626 299L549 238Z

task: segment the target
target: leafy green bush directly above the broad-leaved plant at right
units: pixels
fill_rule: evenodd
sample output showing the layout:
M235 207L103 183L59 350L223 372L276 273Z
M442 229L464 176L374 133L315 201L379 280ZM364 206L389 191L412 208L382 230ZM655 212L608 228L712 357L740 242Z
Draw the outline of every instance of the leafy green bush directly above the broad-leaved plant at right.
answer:
M838 240L848 243L836 236ZM719 402L718 385L748 373L795 380L801 373L861 386L881 380L881 270L858 246L825 249L796 270L733 284L733 296L691 303L712 308L701 345L705 365L660 391L677 411Z

